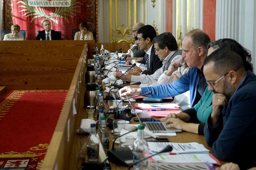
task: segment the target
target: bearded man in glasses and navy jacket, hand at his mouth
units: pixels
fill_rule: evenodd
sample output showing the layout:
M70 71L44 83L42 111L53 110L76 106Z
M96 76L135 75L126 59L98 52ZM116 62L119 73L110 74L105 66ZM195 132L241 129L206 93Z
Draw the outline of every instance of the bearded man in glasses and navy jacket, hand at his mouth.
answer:
M214 91L212 113L204 136L213 154L237 163L240 169L256 166L256 75L245 70L242 58L230 49L213 52L204 61L208 89Z

